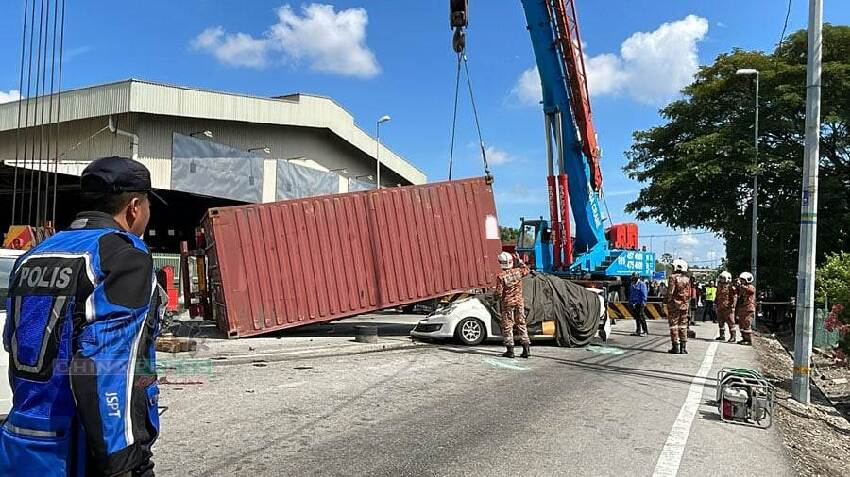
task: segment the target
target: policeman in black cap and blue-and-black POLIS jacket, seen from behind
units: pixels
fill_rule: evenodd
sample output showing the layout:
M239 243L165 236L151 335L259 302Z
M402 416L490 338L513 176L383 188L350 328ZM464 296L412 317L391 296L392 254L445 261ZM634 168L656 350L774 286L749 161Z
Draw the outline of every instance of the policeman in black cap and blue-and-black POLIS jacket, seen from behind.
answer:
M153 476L162 296L140 238L154 195L150 173L106 157L83 170L80 185L85 211L11 274L3 476Z

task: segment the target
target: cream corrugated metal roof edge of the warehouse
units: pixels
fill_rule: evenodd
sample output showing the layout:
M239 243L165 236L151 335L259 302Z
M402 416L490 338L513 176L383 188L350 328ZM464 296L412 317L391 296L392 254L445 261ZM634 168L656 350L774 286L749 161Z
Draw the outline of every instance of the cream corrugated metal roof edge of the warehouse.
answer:
M24 100L22 106L29 105L31 110L34 110L37 101L47 101L48 98L49 96ZM130 79L67 90L63 91L61 96L54 98L62 102L60 120L63 122L135 112L326 128L370 157L375 157L378 148L377 141L355 124L354 117L348 111L332 99L315 95L299 93L278 98L263 98ZM40 122L31 118L29 124L40 124ZM18 103L0 105L0 131L16 129L17 125ZM421 170L383 144L380 159L385 167L414 184L426 181L426 176Z

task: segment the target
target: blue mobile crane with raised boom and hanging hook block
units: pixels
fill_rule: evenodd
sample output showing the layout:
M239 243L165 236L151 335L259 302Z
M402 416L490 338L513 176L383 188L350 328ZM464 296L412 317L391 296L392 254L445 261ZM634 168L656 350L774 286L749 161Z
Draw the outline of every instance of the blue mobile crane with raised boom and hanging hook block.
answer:
M601 150L590 109L575 1L521 2L543 89L550 219L523 218L515 250L532 268L558 275L651 277L655 254L639 249L637 225L605 227ZM467 3L450 1L458 54L465 47Z

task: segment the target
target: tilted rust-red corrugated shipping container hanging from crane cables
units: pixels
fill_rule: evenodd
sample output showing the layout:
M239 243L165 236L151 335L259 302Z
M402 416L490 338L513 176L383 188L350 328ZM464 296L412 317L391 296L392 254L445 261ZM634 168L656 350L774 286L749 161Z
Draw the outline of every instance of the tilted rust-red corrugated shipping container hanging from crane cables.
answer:
M231 338L489 287L501 251L483 178L215 208L204 230Z

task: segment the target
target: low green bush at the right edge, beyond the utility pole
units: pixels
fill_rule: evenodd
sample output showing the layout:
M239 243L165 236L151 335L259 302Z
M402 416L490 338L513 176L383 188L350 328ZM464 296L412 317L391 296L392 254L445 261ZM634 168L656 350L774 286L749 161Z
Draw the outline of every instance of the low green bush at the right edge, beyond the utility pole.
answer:
M815 286L818 297L832 303L826 319L827 331L838 331L841 339L836 354L839 359L850 356L850 253L835 253L818 268Z

